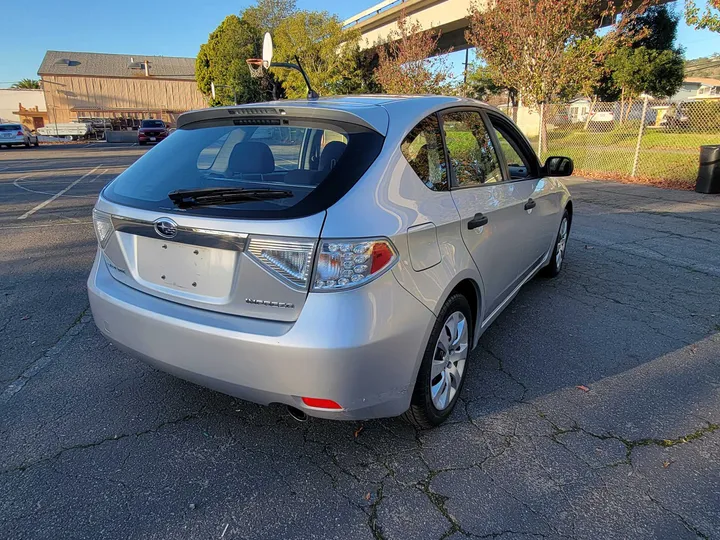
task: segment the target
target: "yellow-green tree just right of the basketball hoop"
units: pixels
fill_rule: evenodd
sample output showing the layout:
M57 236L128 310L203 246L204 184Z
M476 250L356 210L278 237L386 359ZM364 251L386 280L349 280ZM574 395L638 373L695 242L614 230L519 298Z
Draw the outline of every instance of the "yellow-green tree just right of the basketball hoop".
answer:
M343 31L342 22L326 11L298 11L286 17L275 29L273 61L295 62L297 57L321 95L342 93L362 87L358 61L360 35ZM288 97L307 95L307 87L295 70L275 68Z

